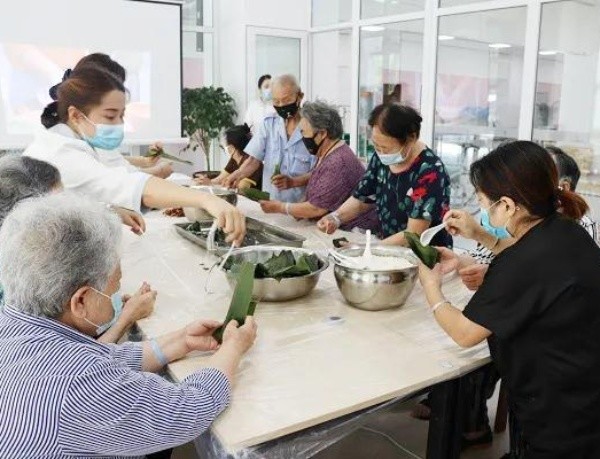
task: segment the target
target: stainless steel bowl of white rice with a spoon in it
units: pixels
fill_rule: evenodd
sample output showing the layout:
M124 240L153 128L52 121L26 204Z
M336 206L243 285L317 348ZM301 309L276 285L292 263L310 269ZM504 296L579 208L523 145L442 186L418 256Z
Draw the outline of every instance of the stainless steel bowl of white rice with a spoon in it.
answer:
M367 311L382 311L399 308L412 292L417 280L417 260L404 247L378 246L372 248L373 255L402 257L414 266L392 271L368 271L350 268L335 262L334 275L342 296L350 306ZM363 247L349 247L339 253L349 257L361 256Z

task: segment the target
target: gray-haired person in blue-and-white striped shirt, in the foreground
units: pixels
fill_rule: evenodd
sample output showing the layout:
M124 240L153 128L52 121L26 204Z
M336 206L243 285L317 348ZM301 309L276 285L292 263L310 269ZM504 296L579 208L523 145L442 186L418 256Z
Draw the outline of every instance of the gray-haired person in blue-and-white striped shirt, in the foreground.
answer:
M121 228L105 206L62 192L26 200L0 229L0 457L143 457L205 431L229 402L256 337L252 318L198 320L141 343L94 338L120 287ZM192 351L208 367L155 374Z

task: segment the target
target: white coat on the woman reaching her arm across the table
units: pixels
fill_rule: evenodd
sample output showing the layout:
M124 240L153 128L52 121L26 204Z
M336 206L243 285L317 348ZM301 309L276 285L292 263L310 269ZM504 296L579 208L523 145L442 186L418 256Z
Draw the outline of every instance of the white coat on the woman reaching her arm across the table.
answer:
M141 211L142 195L151 176L129 172L125 167L107 167L98 153L76 137L66 124L39 131L23 154L55 166L67 190L99 202Z

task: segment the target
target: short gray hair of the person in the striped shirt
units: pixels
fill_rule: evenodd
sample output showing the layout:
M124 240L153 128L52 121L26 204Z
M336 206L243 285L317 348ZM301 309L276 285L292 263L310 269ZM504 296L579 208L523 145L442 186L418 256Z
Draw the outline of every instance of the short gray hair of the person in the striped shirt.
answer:
M117 216L81 195L24 200L0 228L4 303L29 315L59 317L79 288L106 288L120 241Z

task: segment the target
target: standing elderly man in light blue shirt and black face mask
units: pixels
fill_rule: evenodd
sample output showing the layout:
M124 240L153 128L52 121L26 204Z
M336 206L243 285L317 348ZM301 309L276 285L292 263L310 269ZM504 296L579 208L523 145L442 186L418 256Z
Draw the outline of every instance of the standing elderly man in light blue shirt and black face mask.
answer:
M299 109L304 94L292 75L276 78L271 88L276 113L264 119L244 150L249 158L227 177L224 185L236 187L263 163L263 191L270 193L272 199L300 202L316 164L299 129Z

